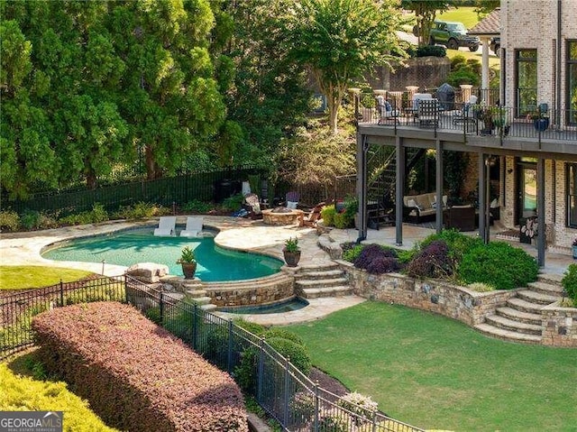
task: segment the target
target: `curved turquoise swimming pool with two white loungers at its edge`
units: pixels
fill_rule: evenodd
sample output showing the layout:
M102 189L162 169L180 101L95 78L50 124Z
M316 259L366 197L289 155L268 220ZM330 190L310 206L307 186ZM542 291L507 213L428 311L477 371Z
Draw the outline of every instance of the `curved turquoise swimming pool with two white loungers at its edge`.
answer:
M169 274L182 276L177 264L184 246L197 255L196 277L200 280L245 280L270 276L283 262L257 253L243 253L215 245L213 237L155 237L152 228L72 240L41 253L47 260L105 262L130 267L137 262L157 262L169 266Z

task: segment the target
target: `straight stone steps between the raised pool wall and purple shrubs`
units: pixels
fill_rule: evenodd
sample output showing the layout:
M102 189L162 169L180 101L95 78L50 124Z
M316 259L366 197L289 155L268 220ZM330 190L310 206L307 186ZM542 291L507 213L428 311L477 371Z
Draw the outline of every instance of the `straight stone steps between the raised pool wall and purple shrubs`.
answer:
M301 266L295 273L295 291L305 299L353 295L353 287L338 264Z

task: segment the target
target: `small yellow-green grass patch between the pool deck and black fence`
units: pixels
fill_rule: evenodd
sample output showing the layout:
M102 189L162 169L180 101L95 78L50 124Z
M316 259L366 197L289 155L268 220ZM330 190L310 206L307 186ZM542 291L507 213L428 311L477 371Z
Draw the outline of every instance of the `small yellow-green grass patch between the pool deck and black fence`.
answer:
M0 290L23 290L48 287L63 282L81 280L92 274L90 271L42 267L33 265L0 266Z

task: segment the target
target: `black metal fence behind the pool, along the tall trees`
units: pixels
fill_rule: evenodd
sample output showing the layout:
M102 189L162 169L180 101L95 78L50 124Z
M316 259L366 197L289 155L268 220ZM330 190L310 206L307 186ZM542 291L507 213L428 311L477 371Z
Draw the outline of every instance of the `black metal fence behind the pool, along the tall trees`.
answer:
M124 182L96 189L69 191L45 191L25 200L9 200L3 197L4 207L16 213L26 210L45 212L60 211L63 214L78 213L102 204L107 210L138 202L151 202L170 207L184 205L191 200L204 202L222 201L234 193L241 192L242 181L249 175L261 175L259 167L245 166L230 170L195 172L162 179Z

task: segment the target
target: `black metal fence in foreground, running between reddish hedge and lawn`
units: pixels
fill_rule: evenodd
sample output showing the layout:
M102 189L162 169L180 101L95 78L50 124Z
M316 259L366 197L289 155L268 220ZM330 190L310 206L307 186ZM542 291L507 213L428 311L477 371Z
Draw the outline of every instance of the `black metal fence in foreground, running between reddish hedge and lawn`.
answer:
M319 387L266 341L196 304L174 299L128 276L55 285L1 299L0 359L31 346L32 317L43 310L82 301L126 301L219 369L252 377L244 390L283 430L296 432L418 432L422 429L380 412L344 403Z

